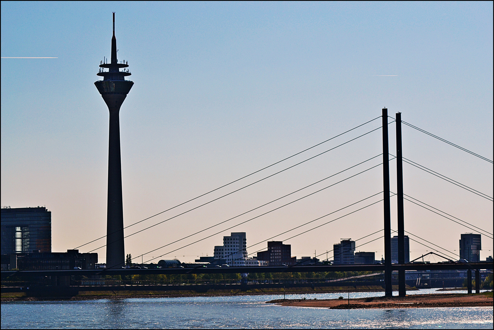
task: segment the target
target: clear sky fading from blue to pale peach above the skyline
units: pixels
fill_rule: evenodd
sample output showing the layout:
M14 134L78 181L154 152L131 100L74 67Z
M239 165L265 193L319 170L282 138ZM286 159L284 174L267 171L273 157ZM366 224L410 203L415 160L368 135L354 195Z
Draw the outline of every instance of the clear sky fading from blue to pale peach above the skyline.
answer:
M52 250L106 234L108 109L94 82L110 56L134 85L120 112L124 224L222 186L380 116L493 159L493 3L486 2L1 2L1 206L46 206ZM391 121L391 120L390 120ZM164 221L380 126L379 120L139 225ZM390 153L396 152L390 124ZM493 196L493 165L403 127L404 157ZM263 205L382 152L381 130L125 239L132 256ZM222 236L270 239L382 191L382 167L239 224L381 162L379 157L280 201L152 253L212 255ZM391 161L396 192L396 163ZM493 233L493 203L404 164L405 194ZM375 196L274 238L289 237ZM396 229L396 197L391 199ZM292 255L331 250L383 228L382 202L286 241ZM228 230L227 230L228 229ZM458 253L472 232L405 201L405 230ZM357 246L378 238L375 234ZM412 237L420 241L419 239ZM89 251L100 240L81 248ZM425 242L423 242L425 243ZM426 243L427 244L427 243ZM262 243L249 253L266 247ZM482 236L481 257L493 241ZM357 250L383 254L382 239ZM411 257L430 251L411 242ZM105 249L96 250L105 262ZM255 255L255 254L254 254ZM329 258L332 253L329 252ZM326 258L326 254L324 255ZM433 261L434 258L429 260ZM436 258L436 260L439 260ZM140 262L140 259L139 259Z

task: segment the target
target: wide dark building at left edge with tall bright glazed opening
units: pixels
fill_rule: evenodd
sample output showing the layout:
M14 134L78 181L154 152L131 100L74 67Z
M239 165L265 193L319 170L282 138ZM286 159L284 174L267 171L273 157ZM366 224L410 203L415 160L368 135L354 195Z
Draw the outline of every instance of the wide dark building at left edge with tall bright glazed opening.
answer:
M1 254L51 252L51 211L46 207L1 209Z

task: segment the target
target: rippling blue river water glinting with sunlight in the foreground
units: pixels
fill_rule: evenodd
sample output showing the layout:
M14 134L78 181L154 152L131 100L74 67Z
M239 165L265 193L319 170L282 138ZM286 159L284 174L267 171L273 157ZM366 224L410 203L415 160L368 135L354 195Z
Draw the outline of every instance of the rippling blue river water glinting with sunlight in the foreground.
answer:
M429 293L431 289L409 293ZM454 291L462 292L462 291ZM350 298L384 292L350 293ZM307 299L348 293L287 294ZM354 309L266 304L278 295L1 303L1 328L456 328L493 329L492 307Z

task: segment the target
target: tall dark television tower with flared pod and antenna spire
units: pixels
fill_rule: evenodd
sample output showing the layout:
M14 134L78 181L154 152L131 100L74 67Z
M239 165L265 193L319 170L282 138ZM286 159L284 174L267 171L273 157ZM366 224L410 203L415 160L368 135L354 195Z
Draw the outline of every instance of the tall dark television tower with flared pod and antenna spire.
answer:
M108 208L106 223L106 268L120 268L125 264L124 206L122 203L122 163L120 160L119 112L134 82L125 80L130 72L120 71L128 65L117 61L115 38L115 12L113 13L113 37L111 63L100 62L99 73L103 80L94 82L110 111L110 139L108 146ZM108 71L105 71L108 69Z

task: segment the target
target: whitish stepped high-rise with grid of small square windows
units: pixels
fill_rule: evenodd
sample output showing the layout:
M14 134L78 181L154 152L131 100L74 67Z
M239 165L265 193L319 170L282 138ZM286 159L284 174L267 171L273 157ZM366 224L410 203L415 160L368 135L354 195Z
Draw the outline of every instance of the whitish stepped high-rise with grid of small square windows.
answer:
M214 247L214 259L226 260L230 266L245 266L247 258L246 233L231 233L223 236L223 245Z

